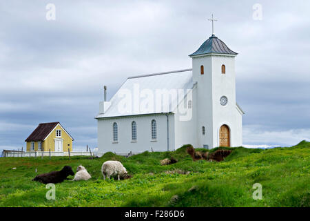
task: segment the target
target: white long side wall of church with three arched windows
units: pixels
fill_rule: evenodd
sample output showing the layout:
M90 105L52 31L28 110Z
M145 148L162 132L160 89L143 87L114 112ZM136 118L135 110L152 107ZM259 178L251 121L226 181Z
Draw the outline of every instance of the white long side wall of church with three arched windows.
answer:
M174 115L169 114L169 148L174 149ZM152 140L152 119L156 120L157 139ZM137 140L132 141L132 122L136 122ZM113 142L113 124L118 125L118 142ZM98 120L99 153L141 153L143 151L167 151L167 117L138 115L131 117L103 118Z

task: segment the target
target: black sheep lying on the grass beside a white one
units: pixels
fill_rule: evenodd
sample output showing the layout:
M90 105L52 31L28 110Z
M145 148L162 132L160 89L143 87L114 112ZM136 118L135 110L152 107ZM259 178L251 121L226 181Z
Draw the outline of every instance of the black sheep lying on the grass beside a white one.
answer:
M61 171L53 171L50 173L43 173L34 177L33 181L38 181L43 184L57 184L67 180L68 175L74 175L71 166L63 166Z

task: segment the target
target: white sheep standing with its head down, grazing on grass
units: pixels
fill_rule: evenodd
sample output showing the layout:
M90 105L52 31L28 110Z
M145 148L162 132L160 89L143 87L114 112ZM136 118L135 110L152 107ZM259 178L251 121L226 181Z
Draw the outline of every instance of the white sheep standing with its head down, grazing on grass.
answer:
M103 179L105 180L105 176L110 180L110 176L117 175L118 180L120 176L125 177L127 175L127 171L123 164L118 161L108 160L102 164L101 172L103 174Z

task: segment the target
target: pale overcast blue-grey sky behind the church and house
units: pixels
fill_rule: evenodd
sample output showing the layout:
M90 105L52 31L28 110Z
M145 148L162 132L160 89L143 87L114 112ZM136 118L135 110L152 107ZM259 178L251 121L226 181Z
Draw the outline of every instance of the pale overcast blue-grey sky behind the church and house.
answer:
M55 19L47 19L55 6ZM261 10L257 8L259 3ZM61 122L74 150L127 77L192 68L214 31L236 57L245 146L310 140L310 1L1 1L0 150ZM50 18L50 17L49 17Z

